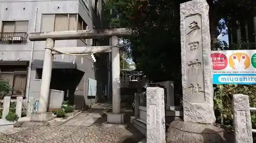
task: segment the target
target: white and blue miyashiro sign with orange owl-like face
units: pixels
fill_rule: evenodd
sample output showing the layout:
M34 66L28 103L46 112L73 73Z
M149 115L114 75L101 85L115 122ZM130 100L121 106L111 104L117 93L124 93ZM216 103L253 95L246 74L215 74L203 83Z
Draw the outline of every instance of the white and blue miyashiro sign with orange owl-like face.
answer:
M214 84L256 84L256 50L211 51Z

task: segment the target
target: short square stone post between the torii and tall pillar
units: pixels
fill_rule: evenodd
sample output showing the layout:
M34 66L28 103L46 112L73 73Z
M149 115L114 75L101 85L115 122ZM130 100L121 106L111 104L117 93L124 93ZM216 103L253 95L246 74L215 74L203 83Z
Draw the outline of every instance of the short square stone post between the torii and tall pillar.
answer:
M146 88L147 143L165 143L164 89Z

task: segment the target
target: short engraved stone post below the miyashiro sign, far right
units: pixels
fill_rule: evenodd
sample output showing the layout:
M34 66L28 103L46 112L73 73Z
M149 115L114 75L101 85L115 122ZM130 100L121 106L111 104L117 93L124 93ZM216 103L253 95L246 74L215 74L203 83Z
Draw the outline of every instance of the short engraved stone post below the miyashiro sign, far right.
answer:
M232 109L235 142L252 143L249 97L243 94L233 95Z

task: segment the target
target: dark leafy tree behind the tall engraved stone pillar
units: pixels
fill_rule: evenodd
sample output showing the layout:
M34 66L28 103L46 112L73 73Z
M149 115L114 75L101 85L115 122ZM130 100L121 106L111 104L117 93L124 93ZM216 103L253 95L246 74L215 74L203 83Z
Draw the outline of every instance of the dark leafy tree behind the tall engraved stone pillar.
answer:
M112 27L130 27L139 37L126 40L137 69L153 81L174 80L176 94L181 94L180 4L181 1L110 0L105 5ZM211 48L220 45L217 37L225 26L227 34L255 13L253 0L207 0ZM222 21L220 21L223 19ZM237 23L240 21L240 23ZM218 43L219 42L219 43Z

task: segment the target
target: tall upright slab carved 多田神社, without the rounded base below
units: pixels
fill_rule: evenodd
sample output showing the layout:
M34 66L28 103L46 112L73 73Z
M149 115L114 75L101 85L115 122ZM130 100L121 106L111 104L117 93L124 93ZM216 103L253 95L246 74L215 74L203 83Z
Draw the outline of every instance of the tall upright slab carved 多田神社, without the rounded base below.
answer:
M209 6L205 0L180 5L184 121L213 124Z

